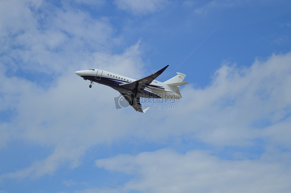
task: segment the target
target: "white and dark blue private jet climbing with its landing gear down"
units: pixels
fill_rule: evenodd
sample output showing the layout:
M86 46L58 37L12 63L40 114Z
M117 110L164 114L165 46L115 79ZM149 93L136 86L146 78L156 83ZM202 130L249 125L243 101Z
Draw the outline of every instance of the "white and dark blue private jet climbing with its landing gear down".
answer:
M182 82L186 75L178 72L178 75L166 82L155 80L155 78L161 75L168 66L169 65L139 80L134 80L132 78L124 77L123 75L94 68L77 71L75 73L84 80L90 80L90 88L94 82L110 86L120 92L127 102L129 102L129 105L131 105L136 111L145 113L149 107L144 110L142 109L140 103L141 97L180 99L182 98L179 91L179 88L181 88L180 86L189 84L189 82Z

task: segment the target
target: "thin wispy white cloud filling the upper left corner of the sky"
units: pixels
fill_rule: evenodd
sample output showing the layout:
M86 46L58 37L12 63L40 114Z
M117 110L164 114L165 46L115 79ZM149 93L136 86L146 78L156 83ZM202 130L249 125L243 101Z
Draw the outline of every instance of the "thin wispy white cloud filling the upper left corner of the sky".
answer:
M112 37L113 29L106 17L92 19L88 13L74 8L64 10L47 2L38 7L24 1L3 1L2 5L1 61L12 72L21 69L54 75L68 66L79 66L94 48L73 26L100 51L119 42Z

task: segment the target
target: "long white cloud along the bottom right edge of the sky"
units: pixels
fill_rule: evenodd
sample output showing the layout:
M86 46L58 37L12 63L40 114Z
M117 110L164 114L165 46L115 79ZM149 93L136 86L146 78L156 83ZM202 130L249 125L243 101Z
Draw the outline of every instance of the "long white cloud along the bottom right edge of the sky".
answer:
M136 156L121 154L95 163L97 167L133 176L116 188L119 192L288 192L291 188L288 183L291 171L286 163L265 158L241 161L210 155L207 158L209 161L197 151L179 154L161 149Z

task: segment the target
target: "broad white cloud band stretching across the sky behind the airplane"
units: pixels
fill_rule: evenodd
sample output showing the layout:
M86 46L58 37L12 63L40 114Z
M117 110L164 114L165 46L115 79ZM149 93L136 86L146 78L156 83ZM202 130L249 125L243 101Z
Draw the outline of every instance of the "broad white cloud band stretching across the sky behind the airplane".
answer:
M143 66L139 45L140 42L122 55L109 55L108 58L113 63L120 61L119 69L126 66L127 69L133 68L132 72L139 73ZM96 58L102 61L102 56L95 53L82 66L91 64ZM189 85L181 89L183 98L176 101L174 111L164 110L161 113L157 110L145 114L136 113L131 108L115 110L113 97L118 93L102 85L89 89L88 81L77 77L75 69L54 80L47 90L36 82L6 77L2 71L1 92L5 93L2 96L7 97L1 100L8 102L4 109L16 108L17 116L11 122L1 124L1 145L11 139L26 138L54 149L47 158L34 162L31 167L3 174L2 178L53 174L62 165L77 167L86 150L103 143L123 122L124 116L131 117L132 121L107 143L117 143L119 140L165 143L169 137L180 139L180 134L170 124L161 122L169 120L189 140L198 138L219 146L251 146L255 139L260 138L288 148L290 118L286 116L290 113L291 104L288 89L291 85L290 59L291 53L287 53L272 55L265 61L256 60L251 67L237 68L223 64L214 73L212 84L208 87L194 89ZM113 70L105 61L100 66ZM2 69L5 68L2 66ZM10 86L13 82L18 84ZM114 124L108 114L115 117ZM150 119L155 127L139 127L137 132L140 120L146 119ZM130 167L128 170L124 167L122 171L130 173L133 171Z

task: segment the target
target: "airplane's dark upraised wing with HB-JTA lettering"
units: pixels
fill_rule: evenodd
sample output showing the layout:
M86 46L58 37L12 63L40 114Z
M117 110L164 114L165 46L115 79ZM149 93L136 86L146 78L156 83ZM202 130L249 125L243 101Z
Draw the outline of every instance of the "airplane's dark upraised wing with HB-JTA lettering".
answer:
M119 86L122 86L123 88L129 89L132 91L142 92L143 89L145 89L145 87L147 87L153 80L155 80L159 75L161 75L162 72L164 72L164 70L166 70L166 68L168 66L169 65L165 66L161 70L158 70L157 72L153 73L152 75L144 77L140 80L136 80L134 82L129 82L129 83L125 83L125 84L119 84Z

